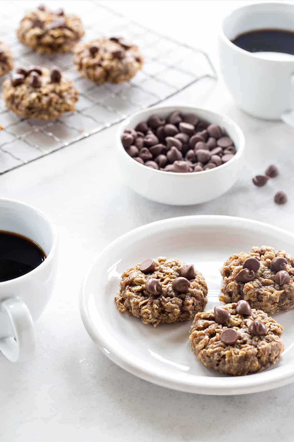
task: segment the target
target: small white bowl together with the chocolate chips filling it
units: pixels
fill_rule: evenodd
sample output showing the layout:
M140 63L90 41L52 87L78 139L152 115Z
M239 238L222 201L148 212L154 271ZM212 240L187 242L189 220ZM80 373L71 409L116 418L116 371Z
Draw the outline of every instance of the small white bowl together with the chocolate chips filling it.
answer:
M231 118L196 107L154 106L119 126L119 170L145 198L199 204L234 185L244 145L242 130Z

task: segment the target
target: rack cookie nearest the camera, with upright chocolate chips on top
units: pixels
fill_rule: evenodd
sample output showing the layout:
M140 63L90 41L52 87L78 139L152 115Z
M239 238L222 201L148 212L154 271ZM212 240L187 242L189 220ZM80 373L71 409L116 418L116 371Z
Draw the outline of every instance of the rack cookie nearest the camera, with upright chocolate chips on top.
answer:
M44 120L73 111L78 100L74 82L57 67L50 71L40 66L19 68L4 81L3 90L8 109L22 117Z

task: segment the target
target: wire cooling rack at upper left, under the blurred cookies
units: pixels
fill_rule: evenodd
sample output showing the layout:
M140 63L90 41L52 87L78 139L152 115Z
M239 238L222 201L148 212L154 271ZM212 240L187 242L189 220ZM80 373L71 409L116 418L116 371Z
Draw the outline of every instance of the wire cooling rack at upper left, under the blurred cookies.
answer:
M40 3L2 1L0 40L11 47L15 67L58 65L74 80L80 97L75 112L51 122L21 118L7 110L0 99L0 124L4 127L0 133L0 174L100 132L203 77L216 78L204 52L157 34L96 1L67 2L66 12L79 15L84 23L84 41L99 35L121 35L137 44L145 58L143 69L132 80L123 84L93 84L75 71L72 53L38 55L18 42L15 29L25 10L35 9ZM53 2L50 3L48 8L52 8ZM0 79L1 85L4 79Z

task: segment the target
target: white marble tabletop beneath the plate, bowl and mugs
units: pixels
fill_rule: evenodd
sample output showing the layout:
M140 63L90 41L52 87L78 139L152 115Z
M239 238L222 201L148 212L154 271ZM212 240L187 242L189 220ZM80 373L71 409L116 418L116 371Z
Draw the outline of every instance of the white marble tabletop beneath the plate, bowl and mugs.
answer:
M215 59L218 18L241 3L246 2L115 1L108 5L146 20L149 27L192 41ZM56 224L60 236L56 288L36 324L37 358L13 365L0 357L1 442L134 438L243 442L248 439L248 427L254 441L293 440L294 423L289 416L294 385L227 397L164 389L109 361L95 347L79 316L79 289L94 256L130 229L168 217L226 214L294 230L294 129L249 117L234 106L222 84L208 80L170 103L182 101L230 115L244 130L246 164L237 185L216 201L171 207L127 189L117 175L115 127L0 176L1 196L39 207ZM251 177L272 162L279 164L279 178L264 188L253 187ZM273 203L273 194L280 189L289 195L288 204L281 207Z

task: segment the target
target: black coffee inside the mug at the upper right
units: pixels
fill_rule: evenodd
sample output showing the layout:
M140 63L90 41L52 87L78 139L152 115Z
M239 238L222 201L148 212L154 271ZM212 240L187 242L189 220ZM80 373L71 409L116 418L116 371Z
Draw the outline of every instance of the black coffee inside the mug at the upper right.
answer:
M294 55L294 32L290 30L252 30L238 35L232 43L249 52L280 52Z

